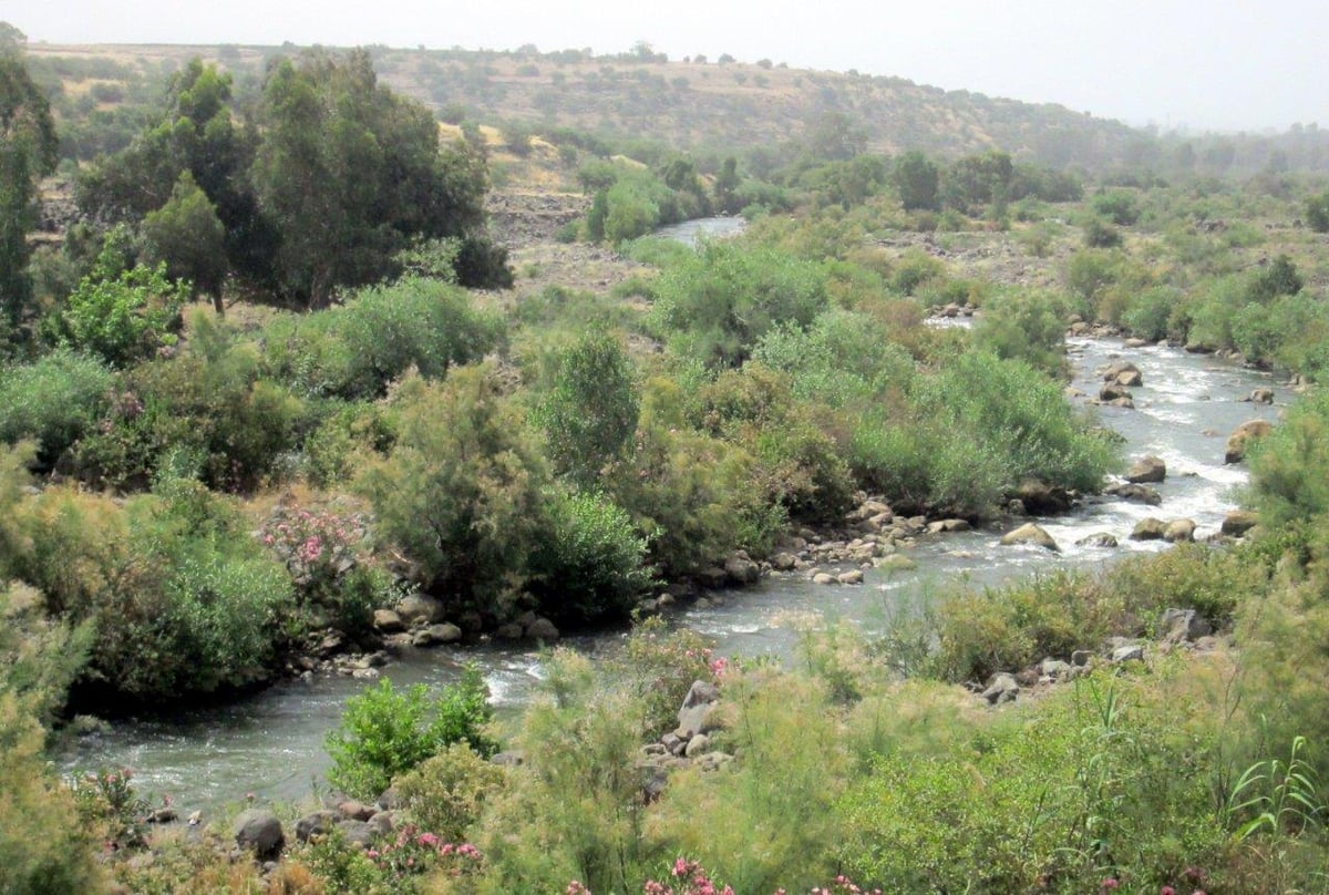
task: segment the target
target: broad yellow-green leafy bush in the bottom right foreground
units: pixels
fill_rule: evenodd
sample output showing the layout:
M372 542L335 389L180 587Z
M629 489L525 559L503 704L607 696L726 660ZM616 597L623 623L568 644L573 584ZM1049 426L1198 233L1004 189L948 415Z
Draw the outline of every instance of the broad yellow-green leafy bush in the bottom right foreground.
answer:
M1199 883L1227 832L1209 797L1212 729L1179 726L1158 696L1176 689L1095 677L968 746L882 754L839 805L845 872L884 891Z

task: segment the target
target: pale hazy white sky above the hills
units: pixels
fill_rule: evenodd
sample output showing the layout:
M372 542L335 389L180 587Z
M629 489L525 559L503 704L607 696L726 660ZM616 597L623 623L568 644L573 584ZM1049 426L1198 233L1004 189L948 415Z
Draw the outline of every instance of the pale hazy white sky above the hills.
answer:
M851 68L1130 124L1329 126L1329 0L0 0L49 43L464 47Z

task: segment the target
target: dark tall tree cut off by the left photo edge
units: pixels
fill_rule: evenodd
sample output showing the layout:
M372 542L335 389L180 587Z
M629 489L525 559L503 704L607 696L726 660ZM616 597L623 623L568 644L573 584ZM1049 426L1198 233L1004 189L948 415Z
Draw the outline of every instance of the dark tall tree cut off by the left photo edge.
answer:
M12 44L0 47L0 313L11 328L32 301L28 233L37 222L37 184L56 169L58 150L47 97Z

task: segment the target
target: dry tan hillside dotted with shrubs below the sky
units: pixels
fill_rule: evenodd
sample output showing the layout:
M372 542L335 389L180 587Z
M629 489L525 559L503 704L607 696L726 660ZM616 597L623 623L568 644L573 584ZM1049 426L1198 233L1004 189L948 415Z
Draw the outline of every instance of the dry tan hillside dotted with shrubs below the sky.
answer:
M243 86L256 82L268 59L299 48L32 44L28 51L53 89L80 100L84 110L109 113L134 94L136 84L191 56L221 63ZM445 121L570 126L615 140L756 150L758 157L764 152L772 162L777 148L796 142L823 157L906 149L956 157L1001 148L1017 160L1103 169L1152 142L1120 122L1059 105L948 92L900 77L800 70L768 60L666 61L646 51L613 57L583 51L371 52L387 84L427 102Z

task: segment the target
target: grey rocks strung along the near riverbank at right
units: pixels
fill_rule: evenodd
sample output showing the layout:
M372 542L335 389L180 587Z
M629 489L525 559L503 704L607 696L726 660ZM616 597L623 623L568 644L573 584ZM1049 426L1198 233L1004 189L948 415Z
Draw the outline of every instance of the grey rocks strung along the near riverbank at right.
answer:
M1066 658L1047 657L1019 672L995 672L981 686L971 689L987 705L998 706L1014 702L1023 692L1065 684L1096 668L1144 662L1158 646L1211 652L1219 645L1209 622L1193 609L1166 609L1159 620L1159 644L1111 637L1096 652L1079 649Z

